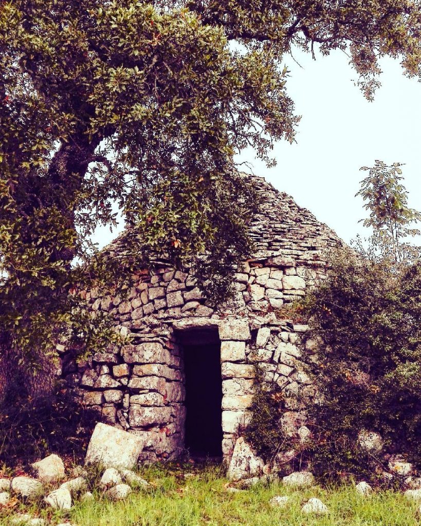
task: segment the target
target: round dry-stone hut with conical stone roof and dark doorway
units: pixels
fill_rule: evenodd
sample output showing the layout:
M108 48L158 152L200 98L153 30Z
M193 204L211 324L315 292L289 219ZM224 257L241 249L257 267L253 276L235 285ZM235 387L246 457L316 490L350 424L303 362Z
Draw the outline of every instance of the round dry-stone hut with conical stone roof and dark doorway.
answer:
M279 319L276 310L323 279L325 254L340 240L263 178L253 176L253 185L264 197L249 224L256 253L235 276L232 304L209 308L193 276L166 264L139 269L127 300L87 292L92 308L108 311L133 340L77 370L64 367L63 377L102 421L144 437L144 460L175 458L185 449L229 457L247 420L255 361L286 395L312 396L302 368L306 327ZM107 247L111 258L124 250L122 239Z

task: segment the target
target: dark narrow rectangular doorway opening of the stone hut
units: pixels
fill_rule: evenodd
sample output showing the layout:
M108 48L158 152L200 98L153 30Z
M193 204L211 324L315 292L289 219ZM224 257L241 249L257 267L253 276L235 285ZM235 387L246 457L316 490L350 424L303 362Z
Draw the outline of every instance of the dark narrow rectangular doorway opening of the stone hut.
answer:
M186 378L185 447L192 456L222 456L222 376L217 331L183 338Z

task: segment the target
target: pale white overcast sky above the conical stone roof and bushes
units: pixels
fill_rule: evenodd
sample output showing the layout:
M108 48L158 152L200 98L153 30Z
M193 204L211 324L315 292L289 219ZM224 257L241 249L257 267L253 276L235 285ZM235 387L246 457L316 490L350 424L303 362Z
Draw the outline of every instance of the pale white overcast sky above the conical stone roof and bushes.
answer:
M287 81L289 96L302 115L296 143L277 143L275 168L268 169L246 151L240 159L253 164L275 188L290 194L299 206L308 208L345 241L359 232L364 217L363 202L354 197L365 172L375 159L387 164L405 163L404 184L409 206L421 210L421 83L403 75L400 64L383 60L382 86L374 102L367 102L354 85L357 74L348 57L334 52L325 57L295 53L290 57ZM95 240L104 246L116 232L100 228Z

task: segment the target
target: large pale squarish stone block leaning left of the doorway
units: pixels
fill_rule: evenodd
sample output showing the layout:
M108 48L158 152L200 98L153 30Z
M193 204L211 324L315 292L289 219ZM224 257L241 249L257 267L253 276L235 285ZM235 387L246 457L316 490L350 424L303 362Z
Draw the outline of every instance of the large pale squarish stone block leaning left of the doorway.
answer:
M97 423L89 441L85 464L130 469L136 465L144 441L121 429Z

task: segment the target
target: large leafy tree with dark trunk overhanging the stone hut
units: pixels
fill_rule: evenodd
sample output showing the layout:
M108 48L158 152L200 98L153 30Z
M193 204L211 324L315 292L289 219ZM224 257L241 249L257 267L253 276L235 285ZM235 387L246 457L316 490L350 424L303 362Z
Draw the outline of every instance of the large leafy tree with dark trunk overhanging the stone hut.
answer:
M113 224L115 201L138 232L128 236L134 259L193 258L220 296L250 250L253 193L233 156L253 146L272 163L273 141L294 139L285 54L349 50L372 98L384 55L420 75L420 35L417 0L3 0L3 361L54 354L64 331L102 345L71 291L112 269L71 262L92 251L96 225Z

